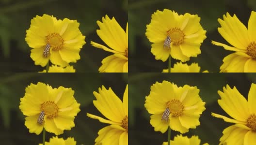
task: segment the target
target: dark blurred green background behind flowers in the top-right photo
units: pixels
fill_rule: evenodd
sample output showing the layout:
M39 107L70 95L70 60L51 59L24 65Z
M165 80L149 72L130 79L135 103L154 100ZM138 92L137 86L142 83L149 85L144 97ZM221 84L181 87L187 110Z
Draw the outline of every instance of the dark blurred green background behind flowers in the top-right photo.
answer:
M207 39L200 49L201 54L197 58L191 58L188 64L197 62L201 71L219 72L222 60L231 51L223 47L211 44L217 41L228 44L218 33L220 27L217 19L223 14L236 14L240 21L247 27L252 10L256 10L256 0L129 0L129 72L162 72L167 69L168 60L162 62L156 60L150 52L151 43L145 36L146 25L151 21L151 14L157 10L170 9L178 14L198 14L201 17L201 25L207 30ZM172 60L172 67L177 60Z

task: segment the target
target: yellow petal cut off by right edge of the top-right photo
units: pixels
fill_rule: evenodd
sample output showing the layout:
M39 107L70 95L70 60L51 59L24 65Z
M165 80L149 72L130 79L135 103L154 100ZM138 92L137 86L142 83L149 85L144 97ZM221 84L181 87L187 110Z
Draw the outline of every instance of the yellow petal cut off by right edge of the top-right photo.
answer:
M249 39L250 39L251 42L256 41L255 24L256 24L256 12L252 11L251 16L249 18L249 22L248 22L248 35L249 35Z

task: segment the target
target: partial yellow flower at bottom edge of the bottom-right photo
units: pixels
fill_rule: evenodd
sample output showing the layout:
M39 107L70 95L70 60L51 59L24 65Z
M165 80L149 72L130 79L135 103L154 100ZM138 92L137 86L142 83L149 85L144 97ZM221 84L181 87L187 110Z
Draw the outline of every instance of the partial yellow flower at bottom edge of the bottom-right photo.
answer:
M171 145L200 145L201 140L198 138L198 136L193 135L191 138L188 138L187 136L177 135L174 137L174 140L171 141ZM163 142L162 145L168 145L168 142ZM208 143L205 143L203 145L209 145Z

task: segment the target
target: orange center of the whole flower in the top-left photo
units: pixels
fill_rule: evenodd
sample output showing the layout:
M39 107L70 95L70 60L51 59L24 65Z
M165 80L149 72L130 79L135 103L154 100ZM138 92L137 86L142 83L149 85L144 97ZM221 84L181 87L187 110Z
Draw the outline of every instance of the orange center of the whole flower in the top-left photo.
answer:
M46 42L50 44L52 50L60 50L63 47L64 40L59 33L51 33L46 36Z

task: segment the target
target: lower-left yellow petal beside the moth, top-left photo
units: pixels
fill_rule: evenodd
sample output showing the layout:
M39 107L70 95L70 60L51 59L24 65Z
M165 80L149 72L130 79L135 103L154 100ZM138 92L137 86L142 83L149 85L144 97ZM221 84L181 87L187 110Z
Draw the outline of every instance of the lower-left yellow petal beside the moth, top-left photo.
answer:
M32 58L32 60L34 60L35 65L41 65L42 67L45 67L46 64L48 63L49 58L43 57L44 49L45 49L45 46L31 49L30 57Z

